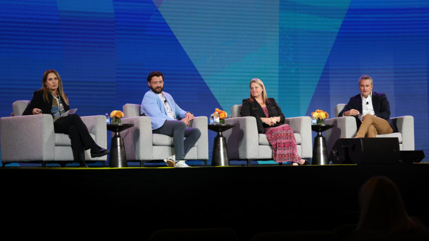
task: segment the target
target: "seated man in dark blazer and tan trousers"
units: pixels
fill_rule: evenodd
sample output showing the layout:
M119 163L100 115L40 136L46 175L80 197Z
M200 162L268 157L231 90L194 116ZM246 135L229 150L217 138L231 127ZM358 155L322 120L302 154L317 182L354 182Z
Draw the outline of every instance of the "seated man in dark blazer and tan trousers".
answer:
M384 93L373 92L373 79L364 75L359 78L360 94L350 98L338 116L354 116L358 127L355 138L376 137L379 134L398 132L390 119L390 104ZM362 122L359 114L362 113Z

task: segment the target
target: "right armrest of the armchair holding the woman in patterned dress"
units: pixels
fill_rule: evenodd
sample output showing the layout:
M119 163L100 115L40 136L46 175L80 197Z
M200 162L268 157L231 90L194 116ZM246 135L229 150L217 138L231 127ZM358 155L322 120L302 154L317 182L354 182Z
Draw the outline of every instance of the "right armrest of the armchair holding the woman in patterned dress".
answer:
M301 135L301 158L311 158L313 156L311 118L309 116L285 118L284 123L292 128L293 133Z

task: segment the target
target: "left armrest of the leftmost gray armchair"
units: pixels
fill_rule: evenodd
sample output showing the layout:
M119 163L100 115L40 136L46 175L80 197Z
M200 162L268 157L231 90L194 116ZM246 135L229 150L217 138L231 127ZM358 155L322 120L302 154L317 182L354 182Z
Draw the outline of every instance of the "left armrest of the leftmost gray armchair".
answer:
M0 118L1 160L53 161L55 134L49 114Z

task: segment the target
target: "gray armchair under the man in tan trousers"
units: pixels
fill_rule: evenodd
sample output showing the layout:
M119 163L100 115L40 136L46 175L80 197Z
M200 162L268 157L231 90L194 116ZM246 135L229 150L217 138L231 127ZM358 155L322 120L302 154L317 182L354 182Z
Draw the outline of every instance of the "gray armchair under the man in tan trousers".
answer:
M326 148L331 151L332 146L339 138L353 138L357 133L356 119L353 116L338 117L338 114L344 109L346 104L338 104L335 106L335 117L326 119L325 124L335 125L325 131ZM385 135L377 135L377 137L397 137L399 140L399 149L401 151L414 151L414 117L407 115L391 118L398 127L398 132Z

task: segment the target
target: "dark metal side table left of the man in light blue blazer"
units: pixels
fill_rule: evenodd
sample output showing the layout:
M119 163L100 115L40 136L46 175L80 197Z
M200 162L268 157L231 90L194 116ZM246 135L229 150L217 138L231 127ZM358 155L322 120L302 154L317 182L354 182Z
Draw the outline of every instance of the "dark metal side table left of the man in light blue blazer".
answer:
M107 124L107 130L115 132L110 143L109 167L128 167L125 155L124 139L119 132L124 131L134 124Z

